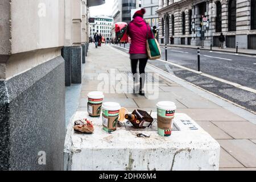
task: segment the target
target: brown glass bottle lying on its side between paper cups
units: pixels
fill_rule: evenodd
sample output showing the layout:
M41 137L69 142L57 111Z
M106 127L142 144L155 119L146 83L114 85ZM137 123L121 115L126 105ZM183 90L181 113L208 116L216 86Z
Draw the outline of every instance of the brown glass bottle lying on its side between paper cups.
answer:
M150 127L154 119L143 110L134 110L131 114L126 114L125 119L129 120L131 124L138 129L145 129Z

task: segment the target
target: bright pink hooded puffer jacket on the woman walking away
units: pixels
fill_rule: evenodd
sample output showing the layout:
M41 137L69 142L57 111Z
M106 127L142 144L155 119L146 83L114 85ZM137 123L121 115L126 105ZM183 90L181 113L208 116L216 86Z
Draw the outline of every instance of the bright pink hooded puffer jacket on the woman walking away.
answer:
M147 34L149 39L154 39L151 28L143 18L137 16L131 21L127 28L127 34L131 38L129 53L147 53Z

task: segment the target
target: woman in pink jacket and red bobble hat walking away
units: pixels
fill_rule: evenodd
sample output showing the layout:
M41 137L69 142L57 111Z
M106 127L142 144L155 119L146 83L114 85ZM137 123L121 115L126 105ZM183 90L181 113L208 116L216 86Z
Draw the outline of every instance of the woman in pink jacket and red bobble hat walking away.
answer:
M133 20L128 24L127 34L131 38L130 45L130 59L131 71L134 75L135 82L138 82L139 77L139 94L144 96L144 83L145 83L145 68L147 65L147 39L154 39L151 27L143 19L146 13L145 9L136 11L133 15ZM139 62L139 76L137 76L137 64ZM136 89L135 89L136 90Z

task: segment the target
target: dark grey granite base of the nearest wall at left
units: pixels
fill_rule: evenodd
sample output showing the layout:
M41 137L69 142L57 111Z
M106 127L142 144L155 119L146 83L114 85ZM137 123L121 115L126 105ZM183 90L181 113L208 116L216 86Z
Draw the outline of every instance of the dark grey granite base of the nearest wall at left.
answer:
M0 170L63 170L64 139L63 57L0 81Z

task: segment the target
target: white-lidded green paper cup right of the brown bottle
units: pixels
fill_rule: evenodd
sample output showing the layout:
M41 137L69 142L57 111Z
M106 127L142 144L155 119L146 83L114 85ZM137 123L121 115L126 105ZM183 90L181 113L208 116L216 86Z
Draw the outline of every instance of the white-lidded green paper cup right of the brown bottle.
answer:
M158 134L162 137L170 137L172 133L172 119L177 109L174 102L162 101L156 104L158 111Z

